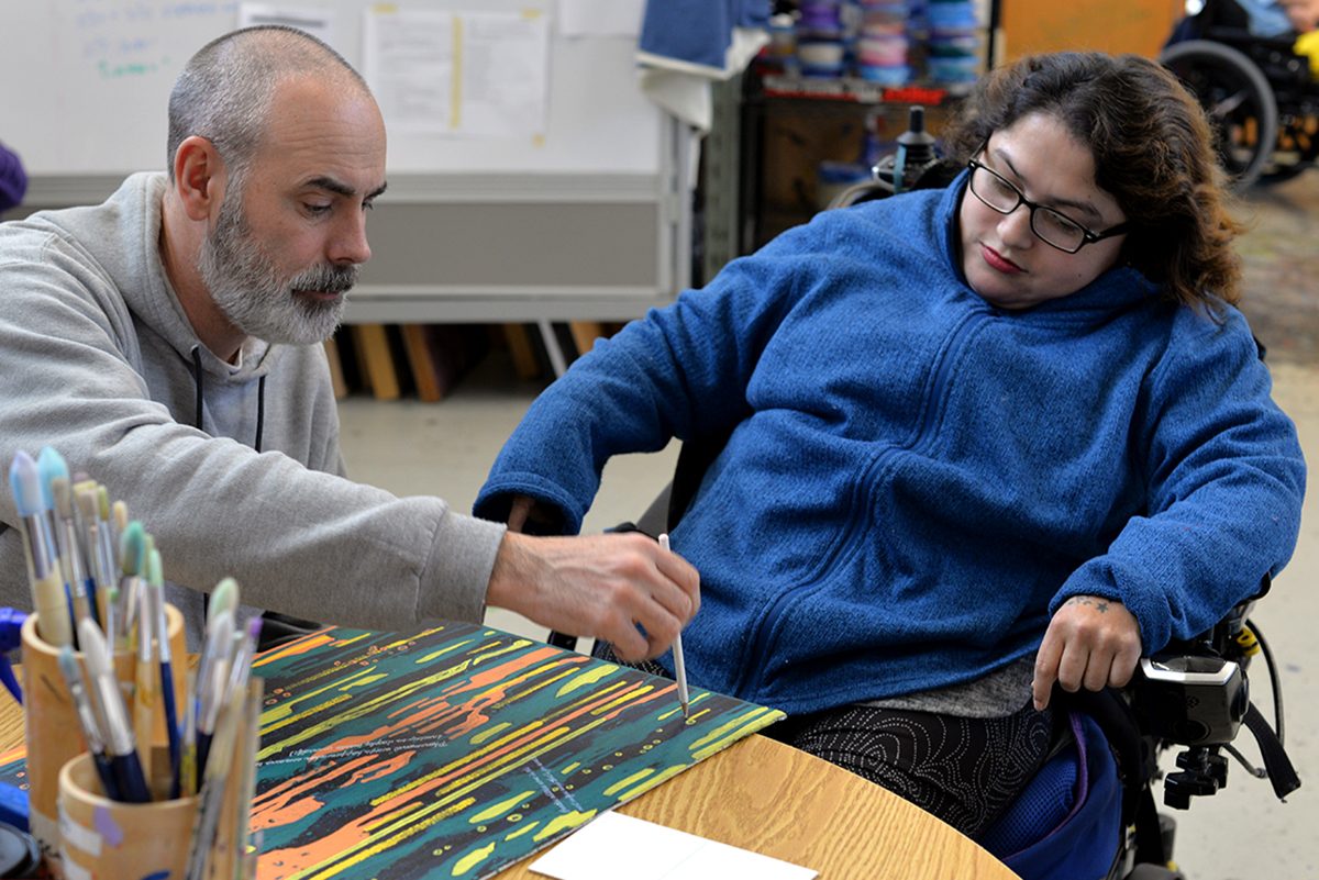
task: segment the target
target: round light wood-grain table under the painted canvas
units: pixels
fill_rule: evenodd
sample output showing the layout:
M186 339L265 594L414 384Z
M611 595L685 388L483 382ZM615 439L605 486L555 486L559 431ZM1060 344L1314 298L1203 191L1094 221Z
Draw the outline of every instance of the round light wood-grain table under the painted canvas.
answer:
M0 751L20 743L22 713L12 700L0 701ZM1017 876L897 794L758 734L619 811L814 868L820 880ZM496 876L539 877L528 869L534 860L524 859Z

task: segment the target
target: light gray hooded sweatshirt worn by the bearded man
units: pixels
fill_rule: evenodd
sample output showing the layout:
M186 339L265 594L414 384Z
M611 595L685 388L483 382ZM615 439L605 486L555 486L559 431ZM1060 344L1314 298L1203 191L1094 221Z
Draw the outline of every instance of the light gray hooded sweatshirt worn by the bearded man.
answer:
M0 223L7 473L18 449L51 445L123 499L194 647L203 593L226 576L244 605L313 620L480 620L504 527L344 478L321 345L249 340L237 364L202 345L160 260L165 188L135 174L104 204ZM30 609L0 497L0 605Z

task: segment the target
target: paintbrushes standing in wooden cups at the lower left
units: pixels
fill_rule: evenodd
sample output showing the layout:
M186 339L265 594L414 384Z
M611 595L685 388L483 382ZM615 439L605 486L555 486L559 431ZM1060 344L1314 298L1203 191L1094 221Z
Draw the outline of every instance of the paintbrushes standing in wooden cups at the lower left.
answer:
M142 523L49 447L18 452L9 483L37 611L22 623L24 718L44 858L70 877L255 876L260 618L237 624L237 584L216 585L185 676L182 618Z

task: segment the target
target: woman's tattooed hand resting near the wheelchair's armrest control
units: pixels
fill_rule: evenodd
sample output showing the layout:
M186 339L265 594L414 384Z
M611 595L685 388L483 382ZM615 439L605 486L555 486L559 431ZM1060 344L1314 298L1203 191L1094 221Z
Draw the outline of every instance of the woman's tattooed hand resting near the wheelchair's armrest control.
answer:
M1049 622L1035 655L1035 709L1049 705L1057 681L1075 693L1121 688L1141 659L1141 630L1136 617L1116 599L1074 595Z

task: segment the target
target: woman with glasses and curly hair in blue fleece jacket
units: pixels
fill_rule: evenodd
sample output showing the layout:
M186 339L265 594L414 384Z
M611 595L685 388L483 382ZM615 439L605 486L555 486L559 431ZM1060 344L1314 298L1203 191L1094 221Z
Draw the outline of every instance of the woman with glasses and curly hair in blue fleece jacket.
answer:
M1171 75L1028 58L948 144L948 188L822 213L598 344L477 514L575 532L609 456L731 432L671 535L689 680L976 837L1054 682L1125 684L1287 561L1304 464Z

